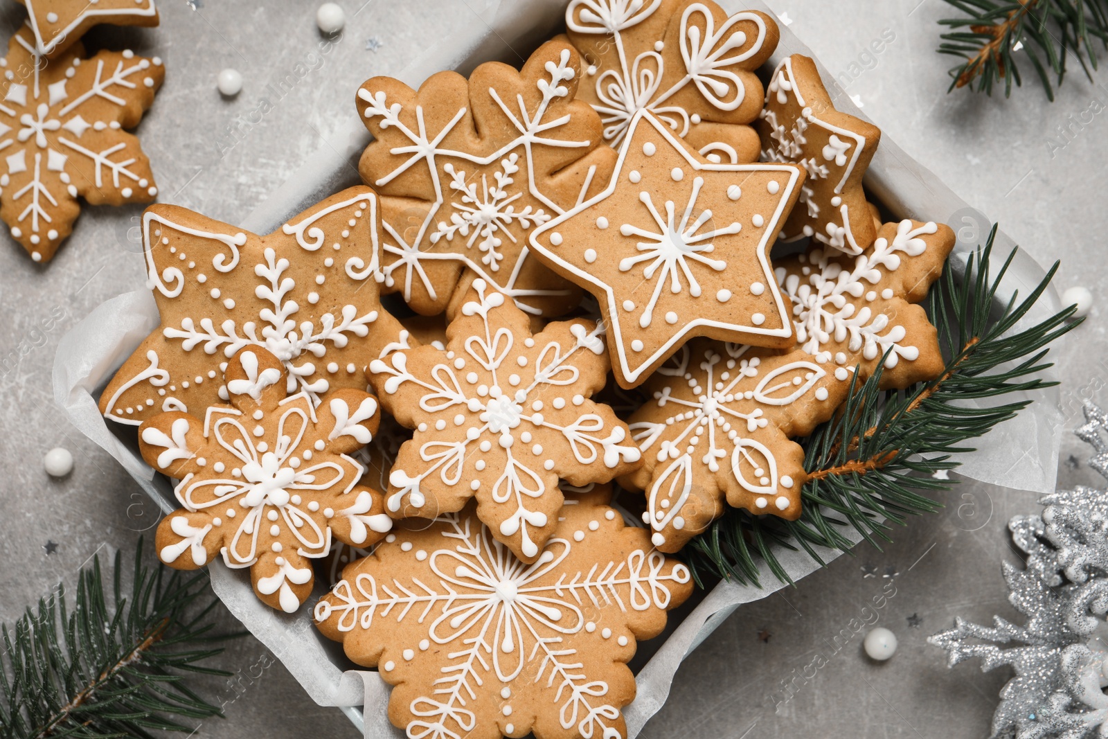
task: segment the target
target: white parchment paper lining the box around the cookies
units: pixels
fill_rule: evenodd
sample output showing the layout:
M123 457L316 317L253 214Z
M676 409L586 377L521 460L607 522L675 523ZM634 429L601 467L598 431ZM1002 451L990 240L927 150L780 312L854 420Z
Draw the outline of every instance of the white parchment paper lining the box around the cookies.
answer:
M560 31L565 0L434 0L425 2L429 12L455 17L456 33L449 39L430 40L433 45L406 68L399 76L416 88L430 74L444 69L468 73L490 59L519 62L541 41ZM729 12L755 8L772 14L761 2L721 0ZM384 31L384 29L382 29ZM515 51L513 51L515 50ZM517 53L516 53L517 52ZM770 60L792 53L811 57L811 51L781 24L781 41ZM838 89L822 66L839 110L865 117ZM351 106L352 109L352 106ZM308 204L352 184L349 162L365 147L369 134L356 115L346 115L339 127L319 151L240 224L255 233L267 233ZM896 217L937 220L950 224L958 234L955 273L964 270L968 250L983 243L989 220L958 198L938 178L909 157L888 136L883 137L866 175L873 196ZM1003 260L1014 243L998 234L994 265ZM1019 252L1002 286L999 301L1012 291L1027 295L1043 278L1043 268L1026 253ZM54 362L54 398L79 430L104 448L157 502L163 512L177 507L168 481L154 475L138 455L133 429L111 427L96 408L100 390L143 338L158 325L154 299L145 287L121 295L93 310L63 337ZM1059 307L1050 289L1025 319L1029 325L1043 320ZM1047 371L1045 378L1056 379ZM1061 412L1057 389L1036 393L1034 404L1017 418L992 431L988 444L961 456L958 472L984 482L1028 490L1054 490L1058 461ZM1007 401L1015 400L1010 396ZM975 402L975 401L971 401ZM854 537L855 542L858 537ZM778 556L793 579L813 572L815 565L806 554L779 551ZM837 552L821 552L824 561ZM376 671L345 670L349 663L339 645L324 638L311 625L309 601L299 614L288 616L263 605L254 595L245 571L230 571L222 563L209 566L212 586L228 609L261 640L304 689L321 706L338 706L366 737L399 737L403 732L389 723L389 688ZM761 567L763 588L720 583L673 630L665 644L636 677L637 695L624 709L628 736L635 737L646 721L665 704L678 666L708 635L743 603L763 598L781 587L768 567ZM317 593L316 595L319 595ZM365 715L356 706L365 706Z

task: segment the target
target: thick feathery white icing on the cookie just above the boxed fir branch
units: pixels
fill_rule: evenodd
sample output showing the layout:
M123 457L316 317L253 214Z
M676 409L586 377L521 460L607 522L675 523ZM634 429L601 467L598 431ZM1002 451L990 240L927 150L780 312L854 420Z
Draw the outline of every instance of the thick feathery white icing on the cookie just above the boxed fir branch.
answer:
M854 257L850 269L843 267L837 252L821 249L798 257L802 266L797 270L778 267L778 279L792 299L793 325L801 348L810 355L830 358L828 345L835 348L834 345L844 343L848 351L869 361L888 351L886 369L896 367L901 359L915 360L919 347L903 343L906 330L882 311L885 302L899 296L890 287L880 291L875 288L886 273L900 268L902 254L906 257L923 254L927 243L920 237L937 230L934 223L913 225L911 220L902 220L892 240L876 239L870 249Z

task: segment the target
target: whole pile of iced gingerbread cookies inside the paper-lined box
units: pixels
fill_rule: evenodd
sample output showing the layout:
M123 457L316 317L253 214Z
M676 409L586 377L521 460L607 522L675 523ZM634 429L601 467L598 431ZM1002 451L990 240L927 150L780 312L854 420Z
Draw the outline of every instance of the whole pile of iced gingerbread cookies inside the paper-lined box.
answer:
M286 613L326 563L316 624L411 737L623 736L626 663L691 593L668 555L726 505L797 519L793 439L879 368L942 371L916 304L954 235L880 223L880 132L810 59L763 84L772 19L573 0L566 29L522 70L367 81L366 186L268 236L148 208L162 325L100 401L179 480L162 560Z

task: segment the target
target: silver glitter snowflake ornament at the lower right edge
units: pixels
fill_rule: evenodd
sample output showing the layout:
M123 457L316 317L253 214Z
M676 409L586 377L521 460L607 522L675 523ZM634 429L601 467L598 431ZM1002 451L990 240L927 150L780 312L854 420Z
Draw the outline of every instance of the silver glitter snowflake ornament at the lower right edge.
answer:
M1077 435L1094 449L1089 466L1108 480L1108 414L1087 404L1085 418ZM1008 601L1027 623L955 618L929 642L951 667L981 657L983 671L1015 669L993 715L994 737L1108 737L1108 491L1078 486L1039 502L1042 515L1008 522L1026 567L1003 565Z

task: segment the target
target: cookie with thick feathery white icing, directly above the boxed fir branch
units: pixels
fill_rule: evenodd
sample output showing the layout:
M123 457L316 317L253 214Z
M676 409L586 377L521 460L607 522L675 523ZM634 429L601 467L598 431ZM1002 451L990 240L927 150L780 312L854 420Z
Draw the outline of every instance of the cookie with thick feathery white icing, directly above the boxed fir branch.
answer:
M948 226L888 223L856 257L817 248L776 263L792 299L799 347L869 377L884 359L881 387L906 388L943 371L935 327L920 302L954 248ZM845 373L845 369L835 370Z

